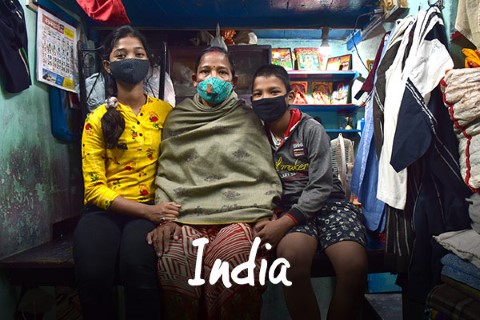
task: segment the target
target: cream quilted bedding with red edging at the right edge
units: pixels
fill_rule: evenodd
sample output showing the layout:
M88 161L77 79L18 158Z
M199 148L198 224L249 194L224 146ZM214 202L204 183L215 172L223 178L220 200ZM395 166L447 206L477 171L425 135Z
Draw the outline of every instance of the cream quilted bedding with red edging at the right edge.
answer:
M449 70L441 82L443 99L459 140L465 183L480 190L480 68Z

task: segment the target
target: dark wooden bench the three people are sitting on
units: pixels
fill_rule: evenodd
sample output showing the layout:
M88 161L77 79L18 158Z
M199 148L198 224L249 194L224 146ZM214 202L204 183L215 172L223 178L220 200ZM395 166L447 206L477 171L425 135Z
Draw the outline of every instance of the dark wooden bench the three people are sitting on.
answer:
M0 272L5 273L14 286L75 286L72 257L73 229L78 217L54 225L54 239L40 246L0 260ZM385 270L383 250L367 250L368 272L382 273ZM312 265L312 277L335 276L325 254L317 254Z

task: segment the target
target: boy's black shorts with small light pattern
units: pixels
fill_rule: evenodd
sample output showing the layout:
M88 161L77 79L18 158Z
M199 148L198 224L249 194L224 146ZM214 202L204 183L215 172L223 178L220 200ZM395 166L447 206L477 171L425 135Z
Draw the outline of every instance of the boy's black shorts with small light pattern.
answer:
M357 207L343 199L329 199L320 212L303 225L289 230L312 236L318 241L318 250L340 241L355 241L365 246L366 230Z

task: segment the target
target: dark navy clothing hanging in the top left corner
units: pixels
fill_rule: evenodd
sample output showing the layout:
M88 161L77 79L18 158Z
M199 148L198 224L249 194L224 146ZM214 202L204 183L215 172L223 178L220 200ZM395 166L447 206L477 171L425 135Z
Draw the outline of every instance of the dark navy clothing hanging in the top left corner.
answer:
M7 92L18 93L32 84L25 15L18 0L0 0L0 30L3 85Z

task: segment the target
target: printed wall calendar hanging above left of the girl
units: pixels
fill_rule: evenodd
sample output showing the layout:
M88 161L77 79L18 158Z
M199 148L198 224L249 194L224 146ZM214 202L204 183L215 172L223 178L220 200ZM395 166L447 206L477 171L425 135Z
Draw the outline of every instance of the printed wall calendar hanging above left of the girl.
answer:
M78 82L75 27L42 8L37 16L37 80L75 92Z

